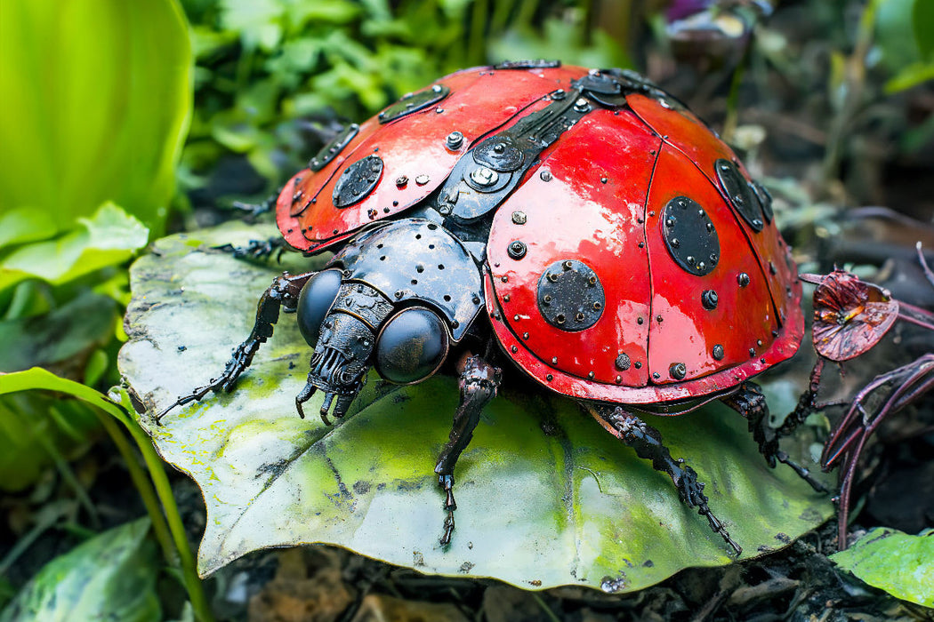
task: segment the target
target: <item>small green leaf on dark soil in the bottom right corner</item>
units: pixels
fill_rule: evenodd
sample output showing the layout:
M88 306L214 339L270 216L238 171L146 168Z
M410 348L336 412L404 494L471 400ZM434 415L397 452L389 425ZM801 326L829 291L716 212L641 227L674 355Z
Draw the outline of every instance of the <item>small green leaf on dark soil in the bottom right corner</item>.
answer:
M870 586L934 607L934 530L911 535L875 527L830 559Z

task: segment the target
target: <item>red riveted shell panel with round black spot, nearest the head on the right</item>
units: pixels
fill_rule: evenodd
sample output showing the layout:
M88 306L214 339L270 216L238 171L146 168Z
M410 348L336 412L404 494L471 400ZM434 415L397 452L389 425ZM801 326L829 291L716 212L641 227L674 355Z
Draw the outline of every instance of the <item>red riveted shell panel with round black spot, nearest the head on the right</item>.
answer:
M487 303L497 338L536 380L563 394L622 401L621 387L648 383L642 219L660 141L628 111L616 112L595 110L566 131L496 213ZM527 249L518 259L509 255L516 241ZM539 280L566 260L586 262L604 291L606 308L585 330L563 330L539 311ZM630 357L628 369L616 366L621 353Z

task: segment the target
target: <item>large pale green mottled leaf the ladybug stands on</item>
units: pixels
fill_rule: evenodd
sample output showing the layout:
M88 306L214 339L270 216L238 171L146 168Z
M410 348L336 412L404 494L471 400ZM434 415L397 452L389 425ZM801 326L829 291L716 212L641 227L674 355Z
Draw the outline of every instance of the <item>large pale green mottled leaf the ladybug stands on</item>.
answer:
M371 375L344 422L300 420L294 395L304 386L310 349L290 315L233 393L177 408L156 426L154 409L223 369L275 275L314 267L300 257L257 267L207 248L273 234L233 225L173 236L156 242L156 253L132 271L130 342L120 369L147 408L140 422L163 457L204 491L202 573L263 546L312 542L521 587L600 587L609 577L622 581L606 587L632 590L687 566L731 561L671 480L573 401L508 385L458 463L457 530L450 546L440 546L443 495L432 469L458 404L456 380L399 388ZM315 404L306 410L316 412ZM785 545L832 511L827 497L790 470L768 468L728 408L650 422L707 483L711 507L743 558ZM801 456L806 445L785 449Z

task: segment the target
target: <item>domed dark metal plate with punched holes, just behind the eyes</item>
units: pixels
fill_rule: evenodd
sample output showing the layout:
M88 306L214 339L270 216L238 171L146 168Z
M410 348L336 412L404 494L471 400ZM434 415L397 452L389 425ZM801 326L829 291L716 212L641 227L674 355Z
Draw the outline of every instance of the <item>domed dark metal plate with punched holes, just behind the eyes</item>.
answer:
M367 283L394 305L417 301L439 311L455 341L483 306L483 281L473 257L460 240L428 220L406 218L361 233L331 265L344 269L345 283Z

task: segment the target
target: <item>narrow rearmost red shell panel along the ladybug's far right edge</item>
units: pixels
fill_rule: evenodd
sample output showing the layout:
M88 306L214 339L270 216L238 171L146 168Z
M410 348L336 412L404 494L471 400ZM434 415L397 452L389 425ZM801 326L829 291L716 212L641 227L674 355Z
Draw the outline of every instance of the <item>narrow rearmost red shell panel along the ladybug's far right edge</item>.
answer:
M713 131L710 131L698 117L683 108L665 107L657 99L642 94L632 94L627 97L627 103L650 128L658 133L668 145L681 151L688 159L693 161L711 183L719 188L724 198L727 191L720 185L716 174L716 160L727 159L742 173L745 181L749 181L749 173L742 162L723 141L719 140ZM771 216L771 205L767 208ZM766 225L760 231L754 230L743 220L743 216L734 212L738 221L742 222L743 233L749 241L750 248L758 258L762 278L769 283L775 311L780 316L784 312L792 325L803 323L800 305L800 283L797 278L797 267L790 259L790 251L782 240L781 234L771 221L766 218ZM766 215L766 214L763 214ZM770 268L774 267L774 270ZM755 273L750 272L755 278ZM790 287L790 291L787 289Z

